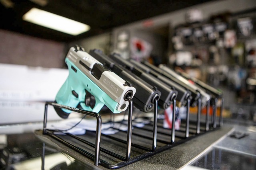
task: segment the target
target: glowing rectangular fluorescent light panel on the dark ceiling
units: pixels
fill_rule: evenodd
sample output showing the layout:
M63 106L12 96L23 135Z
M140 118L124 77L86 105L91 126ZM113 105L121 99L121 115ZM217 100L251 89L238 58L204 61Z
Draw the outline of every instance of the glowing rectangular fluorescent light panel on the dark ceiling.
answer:
M90 30L90 26L78 21L70 20L68 18L52 14L38 8L32 8L22 17L23 20L35 23L44 27L55 29L71 35L78 35L80 33Z

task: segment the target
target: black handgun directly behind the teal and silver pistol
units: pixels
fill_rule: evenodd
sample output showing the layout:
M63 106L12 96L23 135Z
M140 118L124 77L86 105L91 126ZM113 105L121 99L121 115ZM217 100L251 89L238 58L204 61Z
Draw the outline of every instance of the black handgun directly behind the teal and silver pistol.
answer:
M138 78L136 75L128 72L128 70L116 64L116 62L114 62L98 49L90 50L89 54L103 63L104 66L115 72L118 76L124 80L129 81L132 86L136 88L137 93L133 98L135 107L144 112L152 110L154 106L154 100L159 100L159 97L161 96L161 92L156 87L151 86L147 82Z

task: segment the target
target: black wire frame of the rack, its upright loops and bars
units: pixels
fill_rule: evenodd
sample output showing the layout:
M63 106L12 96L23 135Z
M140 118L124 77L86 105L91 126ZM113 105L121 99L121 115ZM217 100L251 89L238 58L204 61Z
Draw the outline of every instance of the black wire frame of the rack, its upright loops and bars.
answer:
M217 125L217 102L218 102L218 98L213 98L213 104L212 104L212 108L213 108L213 113L211 116L211 121L210 121L210 100L207 102L206 105L206 120L205 123L201 122L200 119L200 115L201 115L201 99L198 99L198 111L197 111L197 119L196 122L190 121L190 99L187 98L187 102L186 102L186 123L185 123L185 131L180 131L182 133L184 133L184 136L180 136L180 135L176 135L175 132L177 130L175 130L175 112L176 109L175 107L173 107L172 109L172 129L168 129L171 131L171 135L169 133L165 133L162 131L162 129L166 130L163 127L158 126L158 100L154 100L154 117L153 117L153 122L151 122L150 124L153 126L152 130L148 130L144 127L140 128L142 130L145 131L151 131L152 132L152 144L151 144L151 148L147 148L144 147L142 145L138 145L138 144L133 144L131 143L131 139L132 139L132 114L133 114L133 103L132 103L132 99L129 97L128 101L129 101L129 107L128 107L128 125L127 125L127 140L122 140L122 139L118 139L112 136L108 136L108 135L104 135L108 138L110 138L111 140L117 141L117 142L121 142L121 143L125 143L126 144L126 156L122 156L120 154L114 153L110 150L104 149L102 147L100 147L100 142L101 142L101 129L102 129L102 118L98 113L92 112L92 111L86 111L83 109L78 109L78 108L74 108L74 107L68 107L68 106L63 106L63 105L59 105L56 104L54 102L46 102L45 104L45 110L44 110L44 127L43 127L43 134L44 135L49 135L50 137L56 139L57 141L63 143L64 145L70 147L71 149L74 149L76 152L79 152L80 154L88 157L89 159L91 159L92 161L94 161L94 165L98 166L104 166L105 168L109 168L109 169L117 169L117 168L121 168L123 166L132 164L133 162L142 160L144 158L147 158L149 156L155 155L157 153L160 153L164 150L170 149L176 145L180 145L190 139L193 139L194 137L197 137L198 135L202 135L204 133L207 133L209 131L218 129L219 127L222 126L222 122L223 122L223 118L222 118L222 111L223 111L223 103L224 100L223 98L221 98L221 105L220 105L220 117L219 117L219 121L218 121L218 125ZM176 106L176 99L173 98L172 99L172 104L173 106ZM53 130L49 130L47 129L47 110L48 110L48 105L52 105L53 107L58 107L58 108L62 108L62 109L68 109L77 113L81 113L84 115L89 115L92 117L95 117L97 120L97 124L96 124L96 131L95 131L95 135L96 135L96 139L95 139L95 143L91 143L89 141L86 141L84 139L81 139L79 136L76 135L71 135L71 134L67 134L70 137L76 139L77 141L82 142L84 145L87 145L89 147L95 148L94 154L76 146L76 143L70 143L68 141L65 141L64 139L62 139L61 137L58 137L57 135L54 134ZM192 127L190 127L190 124L194 124L196 125L196 133L194 133L193 135L190 135L191 132L190 130L192 129ZM200 130L201 129L201 130ZM204 129L204 130L202 130ZM119 129L119 131L121 131ZM123 131L125 132L125 131ZM170 137L170 141L166 142L163 141L160 138L157 138L157 133L160 133L161 135L166 135L167 137ZM133 133L133 135L138 136L138 137L142 137L142 139L146 138L143 135L139 135L136 133ZM179 137L181 138L181 140L179 141L175 141L175 138ZM150 137L148 137L148 139L150 139ZM163 147L157 147L157 142L160 143L164 143L165 145ZM131 157L131 147L135 147L141 150L144 150L145 152L138 155L138 156L134 156ZM117 164L111 164L110 162L107 162L106 160L100 159L100 152L104 152L104 154L108 154L109 156L113 156L114 158L120 160L119 163Z

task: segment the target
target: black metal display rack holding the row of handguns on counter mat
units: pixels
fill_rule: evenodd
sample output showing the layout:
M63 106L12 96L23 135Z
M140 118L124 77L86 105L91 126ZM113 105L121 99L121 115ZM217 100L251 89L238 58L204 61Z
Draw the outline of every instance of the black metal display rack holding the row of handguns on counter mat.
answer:
M154 118L153 121L150 122L150 124L145 125L144 127L138 128L138 127L132 127L132 107L133 107L133 103L132 103L132 99L129 97L128 101L129 101L129 107L128 107L128 125L127 125L127 132L126 131L122 131L120 129L118 134L122 135L126 138L126 140L124 139L120 139L120 137L113 137L112 135L104 135L101 134L101 127L102 127L102 118L98 113L94 113L91 111L85 111L82 109L78 109L78 108L73 108L73 107L68 107L68 106L62 106L62 105L58 105L56 103L53 102L46 102L45 104L45 110L44 110L44 127L43 127L43 134L44 135L49 135L50 137L56 139L57 141L63 143L64 145L70 147L71 149L75 150L76 152L79 152L80 154L88 157L89 159L91 159L92 161L94 161L94 165L98 166L104 166L105 168L109 168L109 169L116 169L116 168L121 168L123 166L126 166L128 164L132 164L133 162L136 162L138 160L142 160L144 158L147 158L149 156L152 156L154 154L157 154L159 152L162 152L164 150L170 149L176 145L179 145L181 143L184 143L190 139L193 139L194 137L198 136L198 135L202 135L208 131L212 131L220 126L222 126L222 111L223 111L223 102L224 100L221 99L221 105L220 105L220 118L219 118L219 122L217 125L217 121L216 121L216 112L217 112L217 102L218 99L212 99L214 102L212 104L212 108L213 108L213 114L211 116L211 121L210 121L210 100L207 102L207 109L206 109L206 120L205 123L202 123L200 120L200 115L201 115L201 99L198 99L198 113L197 113L197 120L196 121L190 121L190 99L187 99L186 102L186 106L187 106L187 111L186 111L186 121L181 123L181 127L184 127L184 129L181 129L179 131L174 129L174 125L175 125L175 107L173 107L172 111L172 129L166 129L163 128L161 125L161 120L158 120L158 101L155 100L154 101ZM175 98L173 98L172 100L172 104L173 106L176 106L176 100ZM47 110L48 110L48 105L52 105L54 107L59 107L59 108L64 108L64 109L69 109L84 115L89 115L92 117L96 117L97 119L97 125L96 125L96 131L95 132L91 132L91 131L86 131L86 134L92 134L95 137L95 143L92 142L92 140L88 140L85 138L82 138L80 135L71 135L71 134L66 134L65 136L68 136L70 138L72 138L72 141L67 141L66 139L63 139L63 135L55 135L54 134L54 130L49 130L46 127L47 124ZM139 134L136 132L132 133L132 128L134 128L134 130L140 130L143 133ZM150 132L150 134L152 135L147 136L144 135L144 133L148 133ZM127 134L124 135L124 134ZM158 135L158 137L157 137ZM136 144L135 141L134 143L132 143L132 136L136 137L136 139L141 139L141 141L149 141L149 143L147 143L148 146L151 147L145 147L145 143L143 145L139 145ZM126 145L126 155L121 155L118 153L115 153L113 151L111 151L111 149L105 149L103 147L100 147L100 143L102 142L102 137L108 139L111 143L122 143L122 145ZM166 140L167 139L167 140ZM91 147L94 148L94 152L87 151L85 149L83 149L81 146L81 144L79 146L77 146L77 141L78 143L82 143L82 145L86 146L86 147ZM151 142L150 142L151 141ZM105 141L104 141L105 142ZM159 146L157 146L156 144L161 144ZM135 156L131 157L131 149L139 149L142 150L142 152L140 152L140 154L136 154ZM105 156L102 156L102 154L104 154ZM108 161L108 157L112 157L114 161L114 163L112 161Z

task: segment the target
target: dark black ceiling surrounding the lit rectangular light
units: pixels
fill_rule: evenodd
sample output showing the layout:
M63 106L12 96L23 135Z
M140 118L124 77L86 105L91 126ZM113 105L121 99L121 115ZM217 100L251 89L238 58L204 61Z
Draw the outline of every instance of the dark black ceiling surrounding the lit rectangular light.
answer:
M71 42L207 1L210 0L0 0L0 29ZM86 23L91 29L73 36L23 21L22 16L33 7Z

